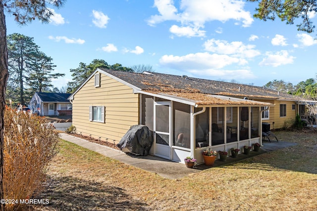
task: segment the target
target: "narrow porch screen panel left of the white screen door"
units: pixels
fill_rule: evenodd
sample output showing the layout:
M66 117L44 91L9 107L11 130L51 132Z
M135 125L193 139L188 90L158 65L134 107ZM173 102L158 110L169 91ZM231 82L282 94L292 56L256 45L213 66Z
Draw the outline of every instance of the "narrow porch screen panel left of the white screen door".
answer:
M142 107L141 107L141 124L149 127L151 131L154 130L153 126L153 104L154 99L152 96L142 94Z

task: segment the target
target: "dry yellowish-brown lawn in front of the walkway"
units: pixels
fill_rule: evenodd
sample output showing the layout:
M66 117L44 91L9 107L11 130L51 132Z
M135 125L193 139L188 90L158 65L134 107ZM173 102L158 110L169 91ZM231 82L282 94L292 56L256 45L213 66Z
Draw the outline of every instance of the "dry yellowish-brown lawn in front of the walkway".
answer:
M298 145L167 179L61 141L36 211L316 210L317 133L276 131ZM185 165L184 165L185 168Z

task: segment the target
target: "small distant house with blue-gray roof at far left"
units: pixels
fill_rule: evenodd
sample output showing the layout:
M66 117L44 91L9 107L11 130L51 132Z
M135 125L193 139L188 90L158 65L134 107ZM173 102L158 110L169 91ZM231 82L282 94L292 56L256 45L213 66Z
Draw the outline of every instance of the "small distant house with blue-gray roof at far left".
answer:
M70 93L35 92L30 101L30 110L41 116L71 116Z

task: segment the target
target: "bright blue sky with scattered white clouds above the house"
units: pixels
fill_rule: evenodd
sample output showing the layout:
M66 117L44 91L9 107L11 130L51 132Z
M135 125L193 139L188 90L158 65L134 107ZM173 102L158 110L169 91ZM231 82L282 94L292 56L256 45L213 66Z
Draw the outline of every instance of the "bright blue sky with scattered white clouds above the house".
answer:
M49 5L50 23L20 26L5 13L7 35L34 38L53 58L61 88L80 62L150 65L157 73L253 84L316 78L317 32L253 18L245 0L67 0ZM316 23L316 14L311 13Z

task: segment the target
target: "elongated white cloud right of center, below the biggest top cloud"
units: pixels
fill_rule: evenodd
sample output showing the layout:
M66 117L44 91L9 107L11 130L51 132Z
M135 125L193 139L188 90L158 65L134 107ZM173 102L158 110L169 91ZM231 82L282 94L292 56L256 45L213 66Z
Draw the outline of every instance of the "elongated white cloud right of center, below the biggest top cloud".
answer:
M255 45L244 44L243 42L227 42L220 40L208 40L204 44L205 50L232 55L234 57L253 58L261 54L259 50L255 50Z

